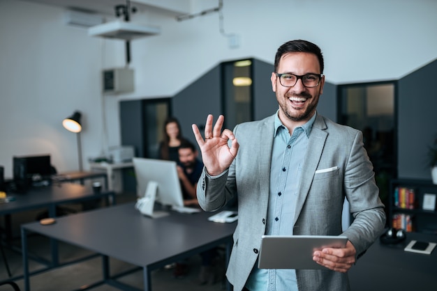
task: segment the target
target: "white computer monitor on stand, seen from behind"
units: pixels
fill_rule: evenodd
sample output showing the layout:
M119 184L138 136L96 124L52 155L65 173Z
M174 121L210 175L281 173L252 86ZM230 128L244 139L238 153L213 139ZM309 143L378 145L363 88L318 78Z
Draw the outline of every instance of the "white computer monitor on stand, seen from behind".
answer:
M176 162L134 157L133 167L140 198L135 207L142 214L154 218L168 215L168 212L154 210L155 201L164 206L184 206Z

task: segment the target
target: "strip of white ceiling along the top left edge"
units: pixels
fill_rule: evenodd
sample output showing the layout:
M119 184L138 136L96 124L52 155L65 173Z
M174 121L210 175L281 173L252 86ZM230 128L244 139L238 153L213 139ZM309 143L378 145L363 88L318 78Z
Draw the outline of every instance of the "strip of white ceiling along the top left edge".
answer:
M114 16L114 7L126 5L126 0L24 0L35 3L43 3L50 6L58 6L76 10L87 10L102 15ZM131 7L138 11L151 11L170 16L185 15L190 13L189 0L131 0Z

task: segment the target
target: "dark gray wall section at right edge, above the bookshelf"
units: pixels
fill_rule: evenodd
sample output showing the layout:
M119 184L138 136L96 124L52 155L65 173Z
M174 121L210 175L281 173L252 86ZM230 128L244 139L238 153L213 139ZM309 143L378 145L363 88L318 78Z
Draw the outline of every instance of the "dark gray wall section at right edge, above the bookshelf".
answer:
M437 134L437 60L398 82L399 178L431 180L427 147Z

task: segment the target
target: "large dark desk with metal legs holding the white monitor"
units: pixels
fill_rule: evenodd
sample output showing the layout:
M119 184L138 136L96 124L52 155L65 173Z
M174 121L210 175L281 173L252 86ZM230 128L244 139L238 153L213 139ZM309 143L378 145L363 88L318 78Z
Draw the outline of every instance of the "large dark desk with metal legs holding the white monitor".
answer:
M237 223L213 223L207 220L212 213L179 214L150 219L134 203L103 208L91 212L60 217L57 223L41 226L28 223L22 226L24 287L30 290L27 258L27 235L38 233L68 244L100 253L103 260L103 281L122 290L126 285L110 278L109 259L116 258L142 267L144 290L151 290L151 271L171 262L188 258L214 246L232 244Z

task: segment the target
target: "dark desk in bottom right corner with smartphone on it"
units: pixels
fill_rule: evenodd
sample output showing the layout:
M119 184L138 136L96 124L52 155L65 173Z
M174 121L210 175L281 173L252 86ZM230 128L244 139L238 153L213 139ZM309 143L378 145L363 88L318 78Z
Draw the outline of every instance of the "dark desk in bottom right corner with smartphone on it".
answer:
M376 241L349 271L352 290L437 290L437 249L431 255L403 251L412 239L437 242L437 235L408 233L391 246Z

